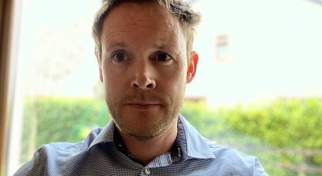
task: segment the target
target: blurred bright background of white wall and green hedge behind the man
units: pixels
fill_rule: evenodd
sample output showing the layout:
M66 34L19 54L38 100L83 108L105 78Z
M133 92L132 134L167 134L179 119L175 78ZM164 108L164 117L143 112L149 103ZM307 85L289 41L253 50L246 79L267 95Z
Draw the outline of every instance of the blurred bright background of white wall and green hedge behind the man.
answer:
M190 0L201 13L181 114L269 175L322 175L322 1ZM91 27L100 0L14 3L3 175L110 120Z

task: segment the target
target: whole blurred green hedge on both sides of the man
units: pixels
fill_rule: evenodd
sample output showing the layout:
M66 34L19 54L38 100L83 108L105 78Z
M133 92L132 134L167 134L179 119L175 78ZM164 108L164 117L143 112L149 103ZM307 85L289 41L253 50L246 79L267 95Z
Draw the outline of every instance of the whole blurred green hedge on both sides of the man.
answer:
M237 105L218 109L205 102L186 101L181 114L206 138L256 156L270 175L296 174L270 167L272 162L299 164L305 161L306 164L322 166L321 156L303 158L300 154L258 152L265 147L321 150L320 99L279 99L261 106ZM44 144L84 140L92 129L107 125L110 118L102 100L27 97L21 162L30 160L34 151Z

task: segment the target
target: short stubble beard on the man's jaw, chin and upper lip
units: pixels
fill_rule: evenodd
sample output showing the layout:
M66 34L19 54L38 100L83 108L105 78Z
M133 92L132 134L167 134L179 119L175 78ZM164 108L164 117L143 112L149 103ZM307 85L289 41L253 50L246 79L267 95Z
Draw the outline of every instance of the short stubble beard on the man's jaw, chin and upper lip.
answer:
M130 136L131 138L140 142L148 142L158 139L159 137L164 135L171 128L171 126L174 125L174 123L176 124L178 115L184 103L185 84L182 84L182 86L178 86L172 96L175 96L175 98L173 99L173 102L171 102L171 104L164 101L161 97L158 97L150 93L134 93L132 95L125 96L119 102L116 103L113 102L112 95L108 91L105 91L105 101L118 130L124 133L125 135ZM160 117L160 121L148 122L148 126L145 126L144 128L137 127L137 123L128 121L128 117L130 115L122 113L122 102L127 100L140 99L157 101L162 103L161 108L164 110L165 114L164 116ZM142 112L139 116L148 117L153 115L154 114L147 114L147 112Z

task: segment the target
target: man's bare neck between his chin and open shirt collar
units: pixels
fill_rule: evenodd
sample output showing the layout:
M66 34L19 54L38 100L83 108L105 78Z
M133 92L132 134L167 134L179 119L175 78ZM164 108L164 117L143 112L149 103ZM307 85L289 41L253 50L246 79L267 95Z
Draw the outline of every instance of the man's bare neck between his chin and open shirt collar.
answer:
M125 135L122 131L118 130L118 132L121 134L128 153L131 153L137 160L147 165L157 156L171 151L177 137L177 121L161 137L148 142L137 141Z

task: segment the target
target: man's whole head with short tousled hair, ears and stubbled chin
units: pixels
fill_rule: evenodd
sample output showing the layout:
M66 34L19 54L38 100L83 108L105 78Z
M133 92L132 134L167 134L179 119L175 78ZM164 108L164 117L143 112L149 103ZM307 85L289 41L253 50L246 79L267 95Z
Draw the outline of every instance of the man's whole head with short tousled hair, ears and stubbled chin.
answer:
M154 140L176 124L185 85L194 78L199 15L181 0L103 4L93 37L110 114L122 133Z

